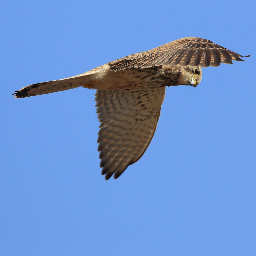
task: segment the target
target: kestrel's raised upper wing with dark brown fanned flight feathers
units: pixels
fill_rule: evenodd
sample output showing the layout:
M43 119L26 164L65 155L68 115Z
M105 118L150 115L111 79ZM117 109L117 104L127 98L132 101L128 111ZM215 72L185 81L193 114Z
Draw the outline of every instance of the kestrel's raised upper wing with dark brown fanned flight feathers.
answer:
M159 65L179 64L180 66L218 67L220 63L232 64L232 60L244 61L242 56L212 41L185 37L168 44L161 45L146 52L139 52L124 58L109 62L111 70L124 68L149 68Z

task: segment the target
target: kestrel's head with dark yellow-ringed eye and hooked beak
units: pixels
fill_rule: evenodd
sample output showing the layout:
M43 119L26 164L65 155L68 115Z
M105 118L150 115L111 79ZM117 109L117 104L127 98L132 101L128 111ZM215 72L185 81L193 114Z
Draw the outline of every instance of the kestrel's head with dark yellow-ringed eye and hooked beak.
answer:
M192 85L196 87L202 79L202 68L185 66L180 69L180 84Z

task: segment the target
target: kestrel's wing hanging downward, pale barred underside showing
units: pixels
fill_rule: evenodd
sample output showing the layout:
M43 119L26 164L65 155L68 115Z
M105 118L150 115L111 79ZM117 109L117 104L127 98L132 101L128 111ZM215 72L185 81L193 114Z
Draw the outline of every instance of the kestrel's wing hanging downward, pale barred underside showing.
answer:
M102 175L118 178L144 154L156 131L165 87L97 90L98 151Z

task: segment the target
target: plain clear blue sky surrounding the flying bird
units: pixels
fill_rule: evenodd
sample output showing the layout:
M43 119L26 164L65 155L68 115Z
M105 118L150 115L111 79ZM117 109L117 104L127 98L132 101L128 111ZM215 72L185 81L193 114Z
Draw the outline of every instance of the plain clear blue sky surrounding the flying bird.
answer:
M255 1L0 7L0 255L256 255ZM100 174L95 91L12 96L187 36L251 57L167 88L117 180Z

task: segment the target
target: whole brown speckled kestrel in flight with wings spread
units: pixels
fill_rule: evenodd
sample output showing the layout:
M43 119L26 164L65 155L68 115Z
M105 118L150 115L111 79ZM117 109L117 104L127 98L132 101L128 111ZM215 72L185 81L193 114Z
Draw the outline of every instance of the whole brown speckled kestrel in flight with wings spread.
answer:
M60 80L28 85L13 95L25 98L76 87L95 89L100 122L98 151L102 175L117 179L145 153L156 131L166 87L191 85L202 68L244 61L210 40L185 37Z

